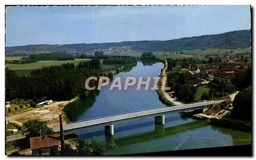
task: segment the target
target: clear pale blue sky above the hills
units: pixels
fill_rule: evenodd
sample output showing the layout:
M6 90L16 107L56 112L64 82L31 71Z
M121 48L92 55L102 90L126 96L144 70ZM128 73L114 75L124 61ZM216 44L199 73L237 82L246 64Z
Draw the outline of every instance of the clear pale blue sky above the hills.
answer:
M6 46L170 40L250 29L249 6L13 6Z

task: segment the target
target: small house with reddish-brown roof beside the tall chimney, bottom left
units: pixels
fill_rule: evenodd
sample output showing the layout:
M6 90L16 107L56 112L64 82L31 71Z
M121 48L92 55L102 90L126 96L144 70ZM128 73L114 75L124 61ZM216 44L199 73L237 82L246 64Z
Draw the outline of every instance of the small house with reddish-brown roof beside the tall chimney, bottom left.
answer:
M30 148L32 155L50 155L58 151L59 137L58 134L36 136L30 138Z

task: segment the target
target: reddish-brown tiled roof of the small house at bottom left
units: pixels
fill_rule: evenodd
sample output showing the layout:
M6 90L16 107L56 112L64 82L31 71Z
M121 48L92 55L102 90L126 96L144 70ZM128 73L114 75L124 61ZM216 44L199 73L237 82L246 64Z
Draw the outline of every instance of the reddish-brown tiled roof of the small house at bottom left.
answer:
M47 148L51 146L58 146L58 145L59 145L58 134L35 136L30 138L30 148L32 150L39 149L39 148Z

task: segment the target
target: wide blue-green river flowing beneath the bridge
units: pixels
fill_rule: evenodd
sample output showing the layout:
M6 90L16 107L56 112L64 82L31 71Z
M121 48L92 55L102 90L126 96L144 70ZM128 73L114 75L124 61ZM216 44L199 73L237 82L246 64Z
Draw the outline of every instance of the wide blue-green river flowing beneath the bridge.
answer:
M138 61L136 66L113 78L121 77L123 82L128 76L156 77L163 67L163 63ZM97 96L66 106L65 112L70 121L166 107L158 99L155 90L137 90L137 86L131 86L127 90L109 90L110 85L111 83L102 87ZM251 144L251 134L248 132L211 126L202 120L184 118L181 113L165 115L164 126L155 125L154 116L115 122L113 136L104 135L103 125L79 129L76 133L84 141L90 140L92 136L101 141L114 139L119 147L105 152L110 155Z

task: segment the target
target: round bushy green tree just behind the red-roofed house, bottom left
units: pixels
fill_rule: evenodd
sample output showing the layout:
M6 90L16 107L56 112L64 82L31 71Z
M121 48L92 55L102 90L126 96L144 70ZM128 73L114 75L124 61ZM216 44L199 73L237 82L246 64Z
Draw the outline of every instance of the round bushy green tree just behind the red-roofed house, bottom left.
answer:
M25 122L22 127L24 128L22 130L22 135L26 135L26 138L31 138L34 136L40 136L40 130L41 135L49 135L54 133L52 128L47 126L46 122L37 121L37 120L29 120Z

